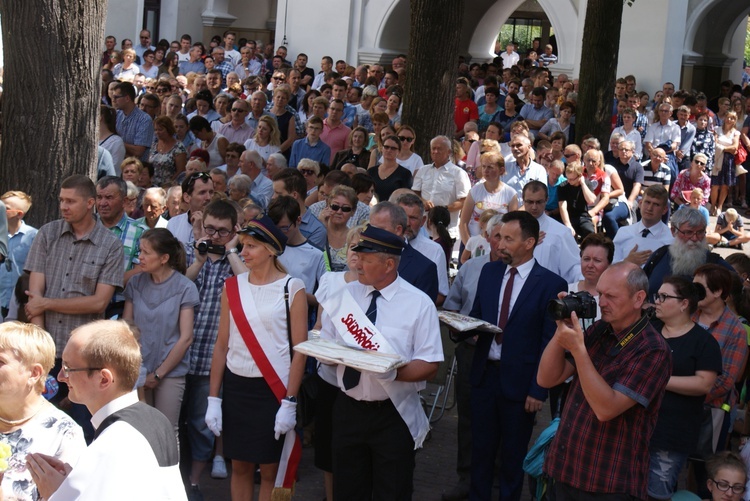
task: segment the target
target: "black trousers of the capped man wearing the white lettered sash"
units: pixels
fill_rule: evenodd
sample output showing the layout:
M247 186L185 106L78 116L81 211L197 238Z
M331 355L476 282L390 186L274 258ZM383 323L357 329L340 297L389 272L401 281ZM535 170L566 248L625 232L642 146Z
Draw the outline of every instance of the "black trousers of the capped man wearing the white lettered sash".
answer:
M414 440L390 400L359 402L339 393L333 405L333 498L410 501Z

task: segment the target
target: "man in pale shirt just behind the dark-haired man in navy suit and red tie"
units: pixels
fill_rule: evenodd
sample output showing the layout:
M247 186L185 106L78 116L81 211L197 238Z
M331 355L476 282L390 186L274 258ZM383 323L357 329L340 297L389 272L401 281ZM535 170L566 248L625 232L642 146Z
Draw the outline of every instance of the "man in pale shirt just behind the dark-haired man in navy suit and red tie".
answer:
M523 189L524 210L539 223L541 237L534 247L534 258L567 283L581 279L581 255L570 230L544 212L547 205L547 185L530 181Z

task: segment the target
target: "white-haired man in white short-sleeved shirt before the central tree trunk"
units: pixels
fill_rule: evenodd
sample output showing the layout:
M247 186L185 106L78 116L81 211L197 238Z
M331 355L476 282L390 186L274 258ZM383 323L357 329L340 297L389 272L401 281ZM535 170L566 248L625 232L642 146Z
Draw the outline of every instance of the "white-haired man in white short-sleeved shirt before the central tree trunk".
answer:
M417 171L411 189L422 198L424 208L443 205L451 213L448 231L458 238L458 216L471 189L469 175L451 162L453 143L446 136L437 136L430 141L432 164Z

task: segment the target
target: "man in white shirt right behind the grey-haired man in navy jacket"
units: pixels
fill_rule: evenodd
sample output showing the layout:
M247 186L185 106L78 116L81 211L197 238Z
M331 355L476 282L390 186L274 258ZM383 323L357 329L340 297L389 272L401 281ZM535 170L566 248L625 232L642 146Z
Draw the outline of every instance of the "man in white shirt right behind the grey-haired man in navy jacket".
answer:
M445 261L445 252L443 252L440 244L427 238L421 231L427 221L424 203L421 198L411 193L401 195L396 203L406 212L407 224L404 228L404 235L406 235L409 244L437 266L438 297L436 304L441 306L448 296L448 265Z

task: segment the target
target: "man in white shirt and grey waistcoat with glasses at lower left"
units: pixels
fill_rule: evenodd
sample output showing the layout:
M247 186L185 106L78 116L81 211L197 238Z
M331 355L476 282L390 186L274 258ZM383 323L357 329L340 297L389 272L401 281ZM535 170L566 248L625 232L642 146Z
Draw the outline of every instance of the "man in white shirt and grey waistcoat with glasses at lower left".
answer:
M44 454L27 456L41 497L187 499L174 429L133 390L141 351L128 324L99 320L75 329L62 360L58 379L71 401L88 407L96 436L72 468Z

